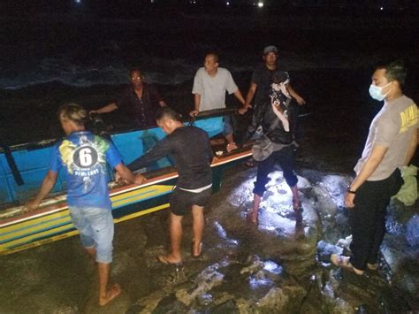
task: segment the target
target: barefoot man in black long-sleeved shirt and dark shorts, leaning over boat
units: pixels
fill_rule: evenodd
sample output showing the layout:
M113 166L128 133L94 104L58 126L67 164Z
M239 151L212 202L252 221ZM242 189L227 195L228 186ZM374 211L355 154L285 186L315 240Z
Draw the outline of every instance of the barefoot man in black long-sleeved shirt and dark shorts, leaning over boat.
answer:
M199 257L202 251L203 209L209 203L212 192L212 149L208 134L195 126L184 126L179 114L170 108L162 108L156 115L157 125L168 134L142 157L134 160L128 168L140 169L168 154L174 157L179 180L171 194L171 253L159 256L163 264L182 262L182 218L192 208L194 238L192 256Z

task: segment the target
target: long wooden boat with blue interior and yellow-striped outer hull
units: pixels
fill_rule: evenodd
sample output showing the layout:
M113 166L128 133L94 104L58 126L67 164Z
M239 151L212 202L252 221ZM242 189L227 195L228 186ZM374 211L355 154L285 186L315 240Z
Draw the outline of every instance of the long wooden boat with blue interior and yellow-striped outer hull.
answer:
M196 121L209 133L210 137L222 131L222 117L225 111L206 112ZM188 122L187 122L188 123ZM126 163L141 156L157 141L164 138L158 128L132 130L110 134ZM78 234L72 226L68 207L65 202L65 173L60 172L57 184L50 198L45 199L40 209L30 213L24 211L24 204L33 197L42 184L48 169L50 149L56 140L22 144L10 149L0 150L0 255L7 255L24 249L65 239ZM220 149L217 144L215 149ZM250 149L237 149L232 153L224 152L214 163L214 188L219 186L222 172L227 166L249 157ZM143 184L118 186L110 183L112 214L116 223L127 219L161 211L169 207L169 196L178 177L170 157L164 157L145 171ZM112 180L113 171L109 171ZM21 183L21 185L19 185Z

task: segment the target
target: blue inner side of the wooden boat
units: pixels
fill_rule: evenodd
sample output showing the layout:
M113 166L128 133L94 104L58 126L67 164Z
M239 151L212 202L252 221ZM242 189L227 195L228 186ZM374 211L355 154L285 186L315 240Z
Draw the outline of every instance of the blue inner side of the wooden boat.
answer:
M209 134L209 137L217 135L223 130L221 117L201 119L194 123ZM140 157L145 151L151 149L156 142L165 136L160 127L145 130L131 131L126 133L112 134L111 139L121 154L126 164ZM0 152L0 206L7 204L22 204L33 197L41 187L42 180L49 169L50 153L55 141L40 142L36 144L19 145L11 148L11 157L14 160L23 185L18 184L13 176L12 167L8 162L5 152ZM172 165L168 157L158 160L146 170L156 170ZM113 171L109 169L109 179L113 177ZM64 193L66 189L65 172L60 172L57 183L52 193Z

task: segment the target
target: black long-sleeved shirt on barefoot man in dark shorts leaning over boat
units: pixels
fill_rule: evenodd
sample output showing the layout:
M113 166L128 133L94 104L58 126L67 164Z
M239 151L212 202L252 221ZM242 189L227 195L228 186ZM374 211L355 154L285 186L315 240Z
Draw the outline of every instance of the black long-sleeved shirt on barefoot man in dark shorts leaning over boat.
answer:
M141 169L171 154L179 172L179 188L203 188L212 183L212 148L208 134L199 127L182 126L168 134L155 147L135 159L128 168Z

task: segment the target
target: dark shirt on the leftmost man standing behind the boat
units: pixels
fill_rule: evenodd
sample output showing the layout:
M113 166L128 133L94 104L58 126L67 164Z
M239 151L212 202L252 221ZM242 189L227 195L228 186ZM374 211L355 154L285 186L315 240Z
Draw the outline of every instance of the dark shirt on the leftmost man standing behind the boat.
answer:
M159 102L162 100L153 85L143 83L141 99L133 87L129 86L116 104L121 111L133 119L134 126L149 127L156 126L156 112L160 108Z

